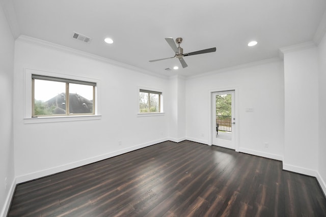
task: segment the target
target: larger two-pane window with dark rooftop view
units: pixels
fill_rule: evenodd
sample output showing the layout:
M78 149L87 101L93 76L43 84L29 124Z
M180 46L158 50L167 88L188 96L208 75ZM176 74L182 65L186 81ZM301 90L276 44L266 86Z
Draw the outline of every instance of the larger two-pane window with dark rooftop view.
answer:
M32 117L93 115L95 82L32 74Z

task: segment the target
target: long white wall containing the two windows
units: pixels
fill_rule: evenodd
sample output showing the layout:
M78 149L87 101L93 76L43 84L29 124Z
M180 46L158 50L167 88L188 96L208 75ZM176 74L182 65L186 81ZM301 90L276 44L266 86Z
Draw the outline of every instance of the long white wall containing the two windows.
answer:
M25 124L24 68L99 79L101 119ZM37 40L17 40L14 80L17 182L165 141L169 136L169 112L160 116L137 115L138 87L160 89L165 95L169 92L167 78L40 45ZM164 104L169 104L168 98Z

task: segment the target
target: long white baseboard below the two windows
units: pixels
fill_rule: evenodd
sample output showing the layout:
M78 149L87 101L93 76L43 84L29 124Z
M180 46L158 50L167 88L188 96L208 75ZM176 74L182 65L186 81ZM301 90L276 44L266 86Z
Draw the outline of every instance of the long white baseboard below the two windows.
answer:
M154 144L157 144L157 143L161 143L161 142L165 142L165 141L168 141L168 140L169 140L168 138L164 138L164 139L159 139L159 140L155 140L155 141L151 141L151 142L146 142L146 143L143 143L143 144L134 145L134 146L123 148L123 149L116 150L116 151L113 151L113 152L101 154L100 156L92 157L92 158L89 158L89 159L84 159L84 160L80 160L80 161L77 161L77 162L61 165L61 166L58 166L58 167L52 167L52 168L49 168L49 169L40 170L40 171L29 173L29 174L24 174L24 175L16 177L16 183L30 181L30 180L33 180L33 179L37 179L37 178L41 178L41 177L44 177L44 176L48 176L48 175L56 174L56 173L59 173L59 172L63 172L63 171L66 171L66 170L70 170L70 169L73 169L73 168L76 168L76 167L91 164L91 163L94 163L94 162L97 162L97 161L102 161L102 160L105 160L107 158L112 158L112 157L118 156L120 154L127 153L129 151L137 150L137 149L140 149L140 148L144 148L144 147L154 145Z

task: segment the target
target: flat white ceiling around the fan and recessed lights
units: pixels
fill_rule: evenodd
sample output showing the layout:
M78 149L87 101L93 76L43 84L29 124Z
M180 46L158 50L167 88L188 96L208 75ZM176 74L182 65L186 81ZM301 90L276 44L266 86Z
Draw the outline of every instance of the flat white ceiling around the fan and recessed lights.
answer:
M164 75L192 76L278 57L279 48L312 41L324 0L13 0L18 33L113 59ZM8 5L8 4L7 4ZM8 17L8 15L7 15ZM16 22L17 21L17 22ZM92 38L72 39L73 32ZM103 39L111 37L114 44ZM182 37L184 53L216 52L149 63L174 56L164 38ZM248 47L251 40L258 41ZM179 70L165 68L179 66Z

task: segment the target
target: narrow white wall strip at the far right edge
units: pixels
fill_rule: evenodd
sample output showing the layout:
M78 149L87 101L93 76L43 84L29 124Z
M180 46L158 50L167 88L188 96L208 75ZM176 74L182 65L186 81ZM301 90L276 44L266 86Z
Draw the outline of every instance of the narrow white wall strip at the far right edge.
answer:
M318 181L326 194L326 36L318 46L319 51L319 147Z

